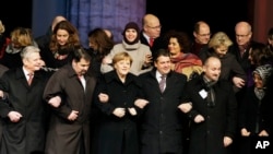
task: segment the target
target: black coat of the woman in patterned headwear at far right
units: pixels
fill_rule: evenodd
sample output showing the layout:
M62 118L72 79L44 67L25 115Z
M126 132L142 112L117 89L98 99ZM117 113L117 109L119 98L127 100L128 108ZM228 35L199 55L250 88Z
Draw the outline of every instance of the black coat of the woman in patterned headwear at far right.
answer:
M265 91L264 97L259 100L254 94L254 87L248 87L244 102L239 107L239 132L246 128L250 132L250 137L239 138L240 154L251 154L254 150L253 145L257 141L273 141L273 95L272 91ZM265 130L270 138L258 137L258 134ZM272 152L271 152L272 153Z

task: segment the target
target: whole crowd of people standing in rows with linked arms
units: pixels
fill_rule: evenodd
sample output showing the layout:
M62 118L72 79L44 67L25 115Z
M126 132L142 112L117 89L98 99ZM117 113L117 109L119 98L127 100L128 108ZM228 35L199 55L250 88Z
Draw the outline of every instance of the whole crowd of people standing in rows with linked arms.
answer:
M145 14L121 43L92 29L88 48L63 16L37 38L0 35L0 153L250 154L271 140L273 28L268 43L245 21L235 42L204 21L193 39L161 28Z

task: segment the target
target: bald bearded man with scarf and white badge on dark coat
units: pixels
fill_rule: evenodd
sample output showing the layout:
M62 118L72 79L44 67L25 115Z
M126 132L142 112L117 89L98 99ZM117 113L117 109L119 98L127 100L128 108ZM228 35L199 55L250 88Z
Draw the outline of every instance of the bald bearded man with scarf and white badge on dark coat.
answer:
M191 120L189 154L226 154L233 143L237 104L232 84L219 74L219 59L210 57L203 74L187 84L179 108Z

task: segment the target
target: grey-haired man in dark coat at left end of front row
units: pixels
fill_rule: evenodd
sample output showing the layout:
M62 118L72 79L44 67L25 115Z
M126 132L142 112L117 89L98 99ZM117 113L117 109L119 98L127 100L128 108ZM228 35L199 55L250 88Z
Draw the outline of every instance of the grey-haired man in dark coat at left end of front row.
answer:
M0 99L0 116L3 120L1 154L29 154L44 151L46 107L43 92L48 80L47 72L39 71L43 64L39 48L25 47L21 52L23 67L5 71L0 90L8 93ZM32 83L28 83L32 74Z

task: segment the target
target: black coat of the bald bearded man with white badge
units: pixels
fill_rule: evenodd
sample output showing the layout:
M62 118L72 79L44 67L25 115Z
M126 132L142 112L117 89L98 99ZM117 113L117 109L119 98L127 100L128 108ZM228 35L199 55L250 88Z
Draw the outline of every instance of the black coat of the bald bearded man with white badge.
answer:
M232 84L227 81L218 81L214 85L215 106L207 107L205 98L201 96L203 76L192 79L187 84L187 102L192 103L192 109L188 114L190 126L190 154L225 154L224 137L234 139L237 125L237 103ZM204 121L195 123L193 119L202 115Z

